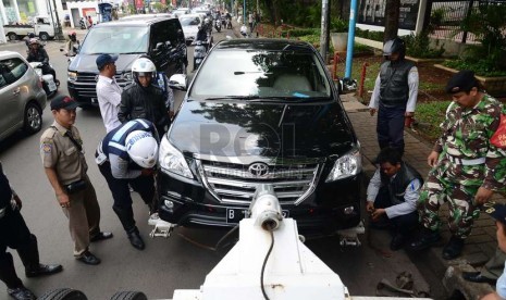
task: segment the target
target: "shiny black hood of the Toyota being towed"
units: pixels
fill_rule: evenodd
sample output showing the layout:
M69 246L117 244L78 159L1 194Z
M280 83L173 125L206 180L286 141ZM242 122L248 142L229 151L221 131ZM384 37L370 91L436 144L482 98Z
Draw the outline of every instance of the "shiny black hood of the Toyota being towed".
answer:
M169 133L187 157L233 160L321 159L356 146L351 124L336 102L268 103L186 100Z

